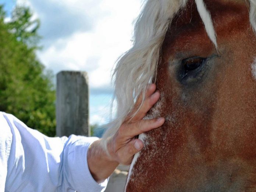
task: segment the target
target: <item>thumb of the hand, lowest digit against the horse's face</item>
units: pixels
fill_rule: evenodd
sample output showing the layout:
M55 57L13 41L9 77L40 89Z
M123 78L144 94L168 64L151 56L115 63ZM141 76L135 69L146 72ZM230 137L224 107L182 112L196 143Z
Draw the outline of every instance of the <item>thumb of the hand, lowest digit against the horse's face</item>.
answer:
M119 151L119 162L121 164L130 164L134 154L138 153L144 144L140 139L130 141L121 151Z

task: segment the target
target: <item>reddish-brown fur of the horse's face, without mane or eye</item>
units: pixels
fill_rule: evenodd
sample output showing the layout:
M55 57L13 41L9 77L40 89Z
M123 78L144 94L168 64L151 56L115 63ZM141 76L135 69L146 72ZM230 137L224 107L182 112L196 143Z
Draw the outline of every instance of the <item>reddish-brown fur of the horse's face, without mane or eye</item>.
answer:
M205 0L217 35L209 39L189 0L168 28L157 74L159 102L147 117L165 117L145 134L127 192L256 191L256 36L243 0ZM179 78L186 58L207 58Z

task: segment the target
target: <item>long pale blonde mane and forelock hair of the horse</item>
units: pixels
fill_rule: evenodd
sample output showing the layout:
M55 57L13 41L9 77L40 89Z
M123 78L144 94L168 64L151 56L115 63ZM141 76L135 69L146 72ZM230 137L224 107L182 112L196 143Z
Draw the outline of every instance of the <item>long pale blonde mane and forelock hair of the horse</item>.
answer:
M133 117L138 112L139 108L131 114L138 96L142 93L145 99L147 86L156 78L159 53L166 31L174 16L185 7L187 1L147 0L143 4L142 12L135 22L133 47L120 57L114 70L114 99L117 113L103 135L102 144L105 149L107 138L117 132L127 115ZM249 2L250 22L256 32L256 0ZM211 15L203 0L195 0L195 3L206 32L217 48Z

